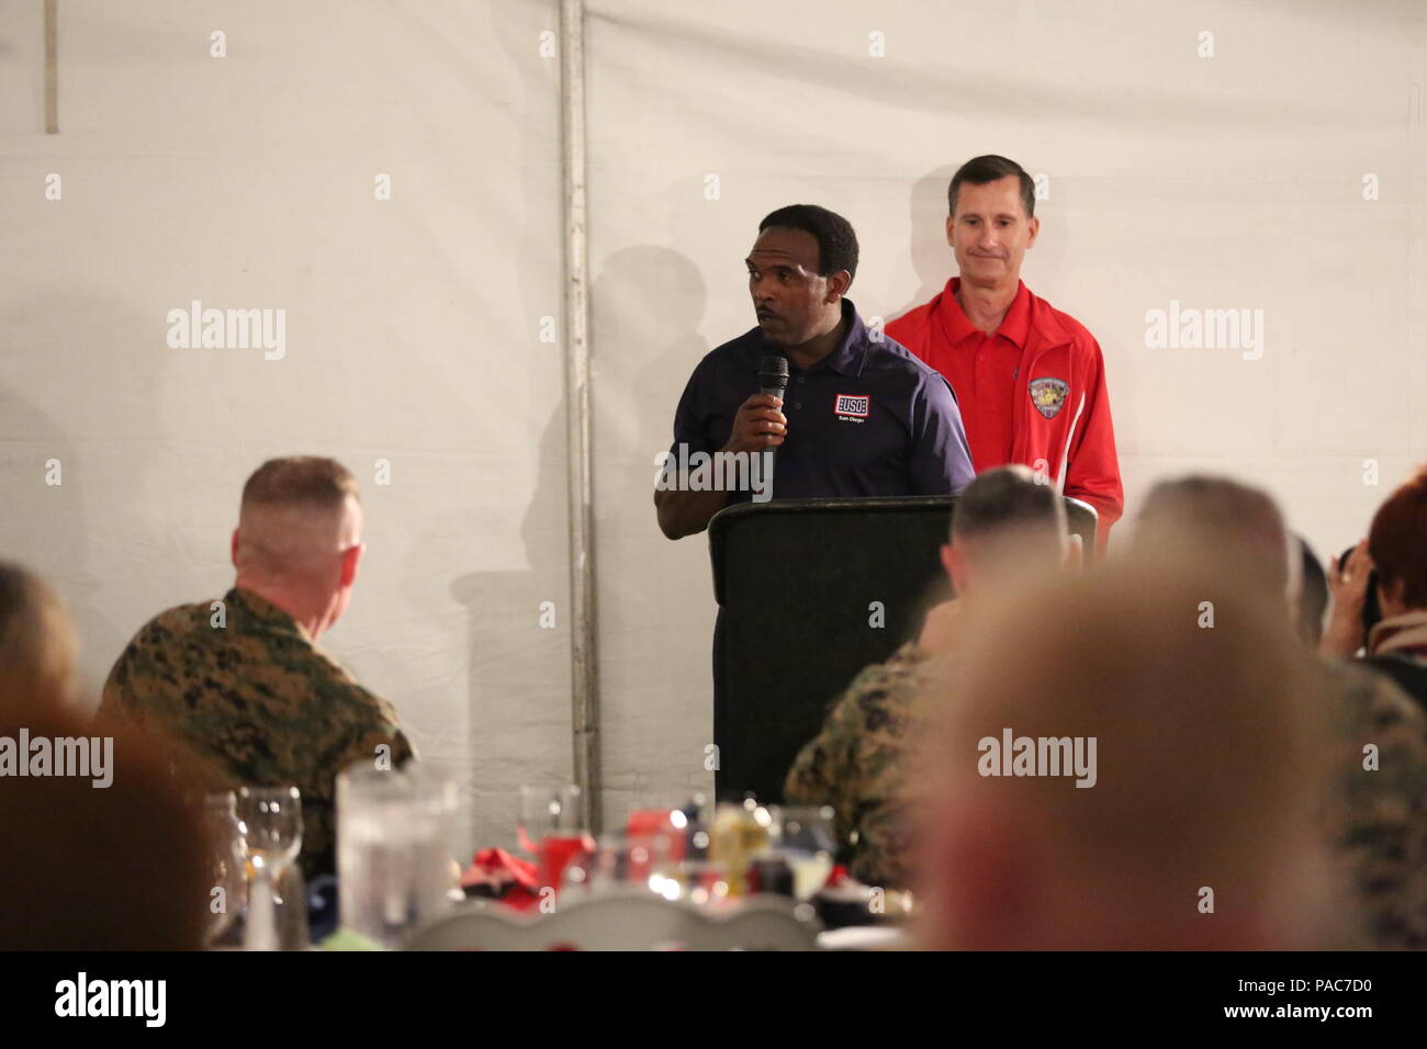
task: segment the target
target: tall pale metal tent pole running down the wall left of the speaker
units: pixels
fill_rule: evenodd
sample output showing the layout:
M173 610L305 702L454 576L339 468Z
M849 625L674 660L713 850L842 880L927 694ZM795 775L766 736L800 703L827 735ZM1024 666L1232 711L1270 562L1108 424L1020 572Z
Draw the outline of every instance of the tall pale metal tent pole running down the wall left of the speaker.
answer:
M585 204L585 4L561 0L565 218L565 432L569 452L569 671L575 784L585 826L602 829L599 674L589 427L589 260Z

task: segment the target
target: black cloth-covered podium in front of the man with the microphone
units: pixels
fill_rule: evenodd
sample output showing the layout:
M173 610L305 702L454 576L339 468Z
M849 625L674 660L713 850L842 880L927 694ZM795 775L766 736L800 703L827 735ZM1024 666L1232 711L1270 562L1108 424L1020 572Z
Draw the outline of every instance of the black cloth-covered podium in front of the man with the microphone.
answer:
M858 671L886 659L949 595L938 548L956 500L743 502L709 522L715 792L779 802L783 778ZM1095 551L1096 514L1066 500ZM875 625L880 622L880 625Z

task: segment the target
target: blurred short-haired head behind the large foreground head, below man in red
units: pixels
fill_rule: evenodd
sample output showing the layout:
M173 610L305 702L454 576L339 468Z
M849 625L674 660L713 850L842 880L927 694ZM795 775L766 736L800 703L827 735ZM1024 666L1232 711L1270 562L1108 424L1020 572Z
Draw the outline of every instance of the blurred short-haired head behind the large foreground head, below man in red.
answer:
M1267 592L1297 614L1303 555L1269 492L1227 477L1192 474L1150 488L1134 528L1134 545L1153 549L1173 538L1196 555Z

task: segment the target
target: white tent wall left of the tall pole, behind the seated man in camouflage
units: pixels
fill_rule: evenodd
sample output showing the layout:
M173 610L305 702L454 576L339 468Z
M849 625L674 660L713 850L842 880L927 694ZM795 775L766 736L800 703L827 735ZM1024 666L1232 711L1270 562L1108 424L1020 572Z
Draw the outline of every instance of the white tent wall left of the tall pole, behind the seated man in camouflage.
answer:
M59 136L41 11L0 4L0 557L97 701L231 585L258 462L341 460L368 549L323 644L464 784L462 851L512 845L518 784L569 775L555 3L61 0ZM285 355L170 348L193 300L285 308Z

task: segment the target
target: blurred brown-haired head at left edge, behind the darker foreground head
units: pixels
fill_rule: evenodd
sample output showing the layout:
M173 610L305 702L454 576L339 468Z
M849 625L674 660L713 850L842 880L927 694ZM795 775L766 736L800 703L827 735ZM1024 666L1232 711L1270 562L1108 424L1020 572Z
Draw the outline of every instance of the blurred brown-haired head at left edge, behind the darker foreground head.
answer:
M44 581L0 561L0 709L74 692L74 627Z

